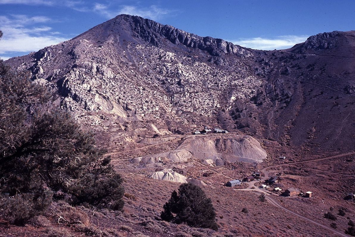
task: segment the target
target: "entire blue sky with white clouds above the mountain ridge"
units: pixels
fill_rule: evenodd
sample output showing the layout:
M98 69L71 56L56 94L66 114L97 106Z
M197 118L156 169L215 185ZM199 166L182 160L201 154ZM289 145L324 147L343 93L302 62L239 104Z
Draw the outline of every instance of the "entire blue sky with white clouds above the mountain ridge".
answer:
M71 39L119 14L255 49L284 49L317 33L355 30L354 0L0 0L0 58Z

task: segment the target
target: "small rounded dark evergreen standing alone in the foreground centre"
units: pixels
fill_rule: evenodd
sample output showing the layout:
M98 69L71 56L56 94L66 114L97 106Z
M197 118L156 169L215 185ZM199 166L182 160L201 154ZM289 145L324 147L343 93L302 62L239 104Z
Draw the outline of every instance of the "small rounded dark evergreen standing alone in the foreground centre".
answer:
M178 191L174 190L165 203L160 215L163 220L218 230L211 199L206 197L200 187L191 183L181 184Z

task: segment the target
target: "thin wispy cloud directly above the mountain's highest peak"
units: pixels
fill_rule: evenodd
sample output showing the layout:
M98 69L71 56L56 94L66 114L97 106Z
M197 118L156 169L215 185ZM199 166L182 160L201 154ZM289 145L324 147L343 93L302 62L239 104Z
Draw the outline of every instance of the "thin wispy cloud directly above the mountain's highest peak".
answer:
M152 5L148 8L124 5L121 6L118 10L110 10L108 5L99 3L94 5L94 11L105 16L106 18L113 18L120 14L128 14L133 16L141 16L152 20L158 20L170 12L169 10L160 8L156 5Z

